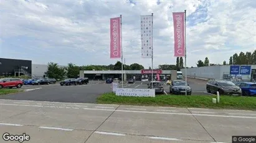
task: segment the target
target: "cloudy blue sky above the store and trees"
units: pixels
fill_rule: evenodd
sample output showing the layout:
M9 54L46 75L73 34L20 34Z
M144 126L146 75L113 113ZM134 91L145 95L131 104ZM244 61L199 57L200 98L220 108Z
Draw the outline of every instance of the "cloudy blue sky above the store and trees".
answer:
M0 0L0 57L79 66L115 64L110 59L110 18L122 15L125 64L141 58L140 15L153 16L153 67L176 64L172 12L186 9L187 66L208 57L229 62L256 50L256 1Z

